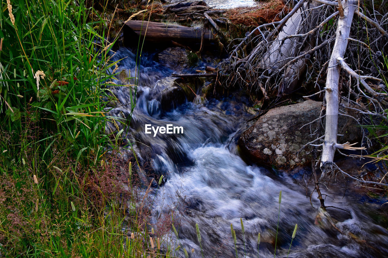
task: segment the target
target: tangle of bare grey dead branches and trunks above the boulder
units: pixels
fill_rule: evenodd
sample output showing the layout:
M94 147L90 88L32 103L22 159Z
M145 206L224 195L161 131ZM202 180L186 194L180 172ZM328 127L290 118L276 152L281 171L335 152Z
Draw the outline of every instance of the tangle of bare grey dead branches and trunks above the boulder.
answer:
M326 119L325 134L310 143L322 147L317 161L322 179L339 169L333 163L336 151L364 149L337 143L338 116L352 116L358 125L370 124L371 117L388 124L388 6L385 0L379 6L355 0L300 0L286 6L291 11L280 21L234 41L220 70L230 74L227 85L256 90L263 99L280 100L295 91L325 97L320 117L323 124Z

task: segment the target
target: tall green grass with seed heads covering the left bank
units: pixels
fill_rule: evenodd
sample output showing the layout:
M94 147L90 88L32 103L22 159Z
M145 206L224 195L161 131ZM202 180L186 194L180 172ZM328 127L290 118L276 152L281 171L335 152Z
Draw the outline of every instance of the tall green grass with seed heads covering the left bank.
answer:
M113 159L120 136L105 132L116 64L104 19L81 1L10 4L0 13L0 253L144 255L147 209L126 207L139 202L119 170L131 168Z

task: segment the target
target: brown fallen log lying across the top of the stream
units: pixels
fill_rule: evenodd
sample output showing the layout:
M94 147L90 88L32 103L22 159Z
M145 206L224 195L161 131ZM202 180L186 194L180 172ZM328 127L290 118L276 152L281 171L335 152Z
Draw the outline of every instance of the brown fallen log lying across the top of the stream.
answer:
M179 43L201 42L202 28L189 28L180 25L166 24L162 22L147 21L127 21L124 30L124 38L133 34L145 37L146 41L155 43L169 43L177 41ZM204 40L212 40L213 34L208 29L204 29Z

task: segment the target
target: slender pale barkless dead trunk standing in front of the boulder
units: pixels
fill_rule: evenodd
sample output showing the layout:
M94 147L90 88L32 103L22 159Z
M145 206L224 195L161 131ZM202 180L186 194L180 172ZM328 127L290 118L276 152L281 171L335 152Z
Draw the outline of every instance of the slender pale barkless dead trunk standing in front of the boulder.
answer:
M340 81L341 66L338 65L337 58L343 58L346 47L348 46L348 38L350 27L352 25L353 15L357 9L355 0L342 1L344 16L338 19L336 41L334 43L333 52L329 61L326 77L326 126L325 139L322 144L322 160L320 169L322 170L321 178L324 174L333 168L334 153L337 149L337 127L338 127L338 83Z

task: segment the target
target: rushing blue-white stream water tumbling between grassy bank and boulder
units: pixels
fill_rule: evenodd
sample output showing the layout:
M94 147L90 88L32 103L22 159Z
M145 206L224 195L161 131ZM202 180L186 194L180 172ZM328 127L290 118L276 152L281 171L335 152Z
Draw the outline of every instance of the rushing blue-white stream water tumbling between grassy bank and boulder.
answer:
M117 117L120 129L124 129L123 135L135 143L140 163L148 164L157 175L164 175L163 184L160 187L153 184L150 193L150 224L157 233L162 232L165 222L173 215L178 237L169 228L165 239L172 239L172 249L180 246L175 257L185 257L183 248L189 257L202 257L201 248L204 257L235 257L236 252L238 257L273 257L276 237L276 256L286 257L296 223L298 230L288 257L388 257L388 231L378 225L383 201L363 197L352 189L344 196L345 186L333 183L330 191L324 190L330 195L327 205L350 213L333 208L329 210L333 218L319 213L316 194L310 203L311 187L306 191L304 182L308 181L305 175L308 171L291 177L244 162L237 139L251 115L245 111L241 98L203 100L197 97L194 101L172 101L171 107L163 110L157 100L158 88L168 82L165 77L174 68L159 64L155 57L155 53L142 55L137 102L130 122L130 91L133 90L130 87L112 90L118 101L110 114ZM133 84L134 79L125 77L130 76L129 71L135 71L135 55L127 48L120 48L113 59L122 59L118 63L121 77L114 83ZM153 133L144 133L145 124L182 126L184 133L154 137ZM114 130L113 125L110 130ZM149 181L149 171L141 176L145 184ZM278 221L279 191L282 199ZM196 223L201 232L201 245ZM338 230L330 223L336 223ZM236 246L230 224L236 230ZM260 246L257 244L259 232Z

